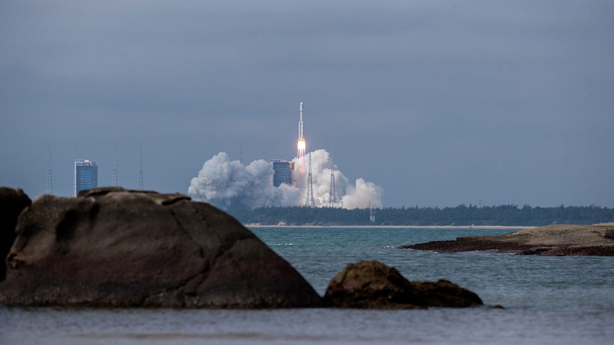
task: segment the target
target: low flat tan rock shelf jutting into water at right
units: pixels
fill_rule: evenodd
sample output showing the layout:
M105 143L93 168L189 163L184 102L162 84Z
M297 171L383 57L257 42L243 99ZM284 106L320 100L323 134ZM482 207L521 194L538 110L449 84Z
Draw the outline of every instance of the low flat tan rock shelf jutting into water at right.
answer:
M455 241L432 241L401 246L405 249L440 253L495 250L521 255L614 255L614 223L594 225L548 225L496 236L460 237Z

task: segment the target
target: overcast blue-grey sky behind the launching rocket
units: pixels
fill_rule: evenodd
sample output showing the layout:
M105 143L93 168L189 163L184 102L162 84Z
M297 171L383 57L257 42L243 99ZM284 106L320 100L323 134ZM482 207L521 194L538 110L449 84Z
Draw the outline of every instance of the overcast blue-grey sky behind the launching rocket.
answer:
M0 2L0 185L187 193L220 151L290 160L298 104L385 206L614 207L612 1Z

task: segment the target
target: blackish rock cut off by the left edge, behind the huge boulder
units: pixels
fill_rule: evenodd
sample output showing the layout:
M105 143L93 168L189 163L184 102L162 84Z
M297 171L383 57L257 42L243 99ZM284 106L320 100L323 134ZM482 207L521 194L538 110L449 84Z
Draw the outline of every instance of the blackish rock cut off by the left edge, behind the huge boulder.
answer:
M6 277L4 258L15 241L17 217L32 201L21 189L0 187L0 282Z

